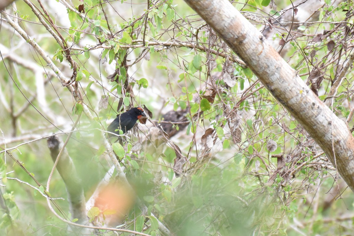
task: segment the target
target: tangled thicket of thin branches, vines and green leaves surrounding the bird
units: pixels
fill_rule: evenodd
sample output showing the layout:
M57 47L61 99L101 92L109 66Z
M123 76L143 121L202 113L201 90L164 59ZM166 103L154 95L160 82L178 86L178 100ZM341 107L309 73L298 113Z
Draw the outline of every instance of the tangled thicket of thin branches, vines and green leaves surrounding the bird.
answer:
M317 2L231 1L353 131L353 6ZM0 26L1 231L352 232L336 163L183 1L24 0Z

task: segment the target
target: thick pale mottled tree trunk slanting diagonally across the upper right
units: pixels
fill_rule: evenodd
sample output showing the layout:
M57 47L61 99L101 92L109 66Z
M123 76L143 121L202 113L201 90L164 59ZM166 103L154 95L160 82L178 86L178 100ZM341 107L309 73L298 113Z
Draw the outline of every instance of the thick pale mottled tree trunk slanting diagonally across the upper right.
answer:
M339 119L227 0L185 0L245 61L306 129L354 191L354 138Z

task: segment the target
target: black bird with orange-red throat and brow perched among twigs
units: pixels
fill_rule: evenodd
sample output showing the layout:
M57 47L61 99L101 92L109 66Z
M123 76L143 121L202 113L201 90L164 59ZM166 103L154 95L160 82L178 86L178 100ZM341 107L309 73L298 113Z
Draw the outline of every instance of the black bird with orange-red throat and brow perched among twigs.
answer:
M140 107L133 107L129 111L117 115L107 128L107 131L110 132L108 133L108 138L115 136L114 134L119 135L119 130L122 130L123 134L125 134L128 130L133 128L137 120L142 116L146 117L146 114Z

